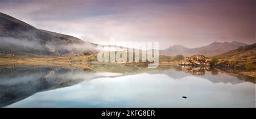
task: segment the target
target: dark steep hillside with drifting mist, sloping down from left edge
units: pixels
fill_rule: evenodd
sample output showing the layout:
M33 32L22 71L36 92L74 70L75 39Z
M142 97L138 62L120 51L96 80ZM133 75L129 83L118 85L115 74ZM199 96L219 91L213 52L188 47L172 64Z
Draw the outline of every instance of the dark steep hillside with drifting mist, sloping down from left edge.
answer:
M38 29L0 12L0 53L19 56L82 55L96 44L76 37Z

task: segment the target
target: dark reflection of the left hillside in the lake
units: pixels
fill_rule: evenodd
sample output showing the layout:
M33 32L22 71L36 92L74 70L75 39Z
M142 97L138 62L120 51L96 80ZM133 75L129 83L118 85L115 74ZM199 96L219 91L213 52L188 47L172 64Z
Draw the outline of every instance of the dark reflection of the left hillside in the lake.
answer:
M0 69L0 107L23 100L40 91L72 86L84 80L118 73L97 73L76 67L2 66Z

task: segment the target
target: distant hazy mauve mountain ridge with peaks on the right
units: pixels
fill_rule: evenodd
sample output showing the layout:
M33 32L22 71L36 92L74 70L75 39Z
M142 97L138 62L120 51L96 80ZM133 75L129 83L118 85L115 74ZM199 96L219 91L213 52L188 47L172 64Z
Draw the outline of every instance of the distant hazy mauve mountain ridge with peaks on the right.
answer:
M244 46L242 42L213 42L207 46L201 46L199 48L186 48L181 45L170 46L167 49L159 50L159 54L167 54L167 55L176 55L182 54L184 56L192 56L194 54L203 54L204 56L216 56L218 54L222 54L225 52L229 52L230 50L234 50L239 48L240 46Z

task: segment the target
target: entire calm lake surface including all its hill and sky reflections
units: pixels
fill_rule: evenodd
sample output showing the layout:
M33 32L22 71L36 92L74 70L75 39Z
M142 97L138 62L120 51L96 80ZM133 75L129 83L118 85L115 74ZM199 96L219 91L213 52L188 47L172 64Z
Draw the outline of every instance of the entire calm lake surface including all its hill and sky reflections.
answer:
M255 107L249 76L180 66L96 69L1 66L0 107Z

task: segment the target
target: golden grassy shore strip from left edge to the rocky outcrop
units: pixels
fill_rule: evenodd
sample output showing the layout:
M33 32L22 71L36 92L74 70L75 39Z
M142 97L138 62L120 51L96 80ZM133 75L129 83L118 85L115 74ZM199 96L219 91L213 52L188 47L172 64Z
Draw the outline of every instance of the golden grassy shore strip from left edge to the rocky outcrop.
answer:
M170 62L166 59L170 59L170 56L161 56L160 65L156 69L168 69L170 65L179 65L179 62ZM46 65L46 66L64 66L64 67L82 67L86 69L94 69L96 71L110 71L114 73L133 73L134 71L147 71L156 70L148 67L148 62L98 62L97 54L91 54L88 56L68 56L68 57L49 57L40 56L32 58L24 57L0 57L0 65L7 64L28 64L28 65ZM163 64L163 65L161 65Z

